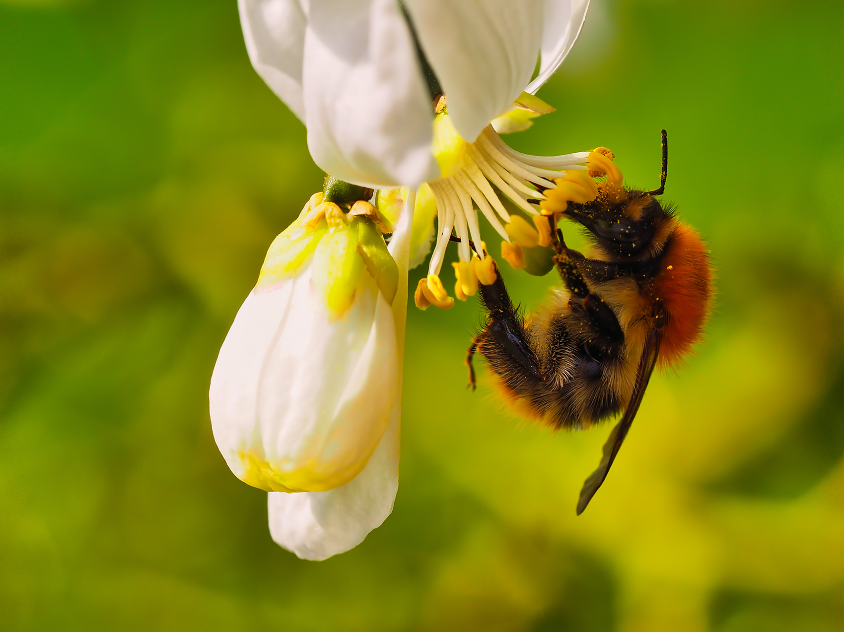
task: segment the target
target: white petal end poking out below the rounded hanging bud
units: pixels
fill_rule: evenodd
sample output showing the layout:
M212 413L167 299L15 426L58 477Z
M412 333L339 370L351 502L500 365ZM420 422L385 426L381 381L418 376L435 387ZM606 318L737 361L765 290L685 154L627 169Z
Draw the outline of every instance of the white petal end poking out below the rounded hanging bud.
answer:
M337 489L269 494L269 532L301 559L326 559L363 542L390 515L398 489L400 402L363 472Z

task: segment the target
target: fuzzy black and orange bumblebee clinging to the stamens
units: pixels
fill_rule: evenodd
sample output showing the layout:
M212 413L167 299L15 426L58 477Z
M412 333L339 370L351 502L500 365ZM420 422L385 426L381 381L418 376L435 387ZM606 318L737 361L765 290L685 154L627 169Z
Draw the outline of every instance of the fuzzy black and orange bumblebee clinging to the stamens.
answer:
M607 477L655 367L678 365L701 339L712 296L706 244L657 199L668 174L665 130L658 189L626 187L617 167L609 171L586 203L545 192L551 225L560 217L581 224L592 249L585 256L552 231L563 288L529 316L514 307L496 267L495 283L479 286L487 319L466 359L473 388L477 352L517 412L555 429L586 428L623 411L583 484L577 515Z

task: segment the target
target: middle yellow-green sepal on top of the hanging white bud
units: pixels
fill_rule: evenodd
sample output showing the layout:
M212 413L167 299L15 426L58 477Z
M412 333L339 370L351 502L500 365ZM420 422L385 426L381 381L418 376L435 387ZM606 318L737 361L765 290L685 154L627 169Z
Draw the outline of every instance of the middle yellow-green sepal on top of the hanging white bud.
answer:
M364 261L358 253L360 239L355 222L342 224L328 230L314 251L311 284L322 296L328 311L328 320L336 321L354 303Z

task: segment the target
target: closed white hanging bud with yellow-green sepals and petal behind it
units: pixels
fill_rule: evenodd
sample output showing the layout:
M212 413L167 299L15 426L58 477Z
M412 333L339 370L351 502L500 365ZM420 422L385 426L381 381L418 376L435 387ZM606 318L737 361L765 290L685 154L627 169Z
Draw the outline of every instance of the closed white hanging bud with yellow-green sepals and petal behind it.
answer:
M354 547L392 510L410 216L388 252L371 205L312 197L270 246L214 367L214 439L238 478L279 492L273 539L305 559Z

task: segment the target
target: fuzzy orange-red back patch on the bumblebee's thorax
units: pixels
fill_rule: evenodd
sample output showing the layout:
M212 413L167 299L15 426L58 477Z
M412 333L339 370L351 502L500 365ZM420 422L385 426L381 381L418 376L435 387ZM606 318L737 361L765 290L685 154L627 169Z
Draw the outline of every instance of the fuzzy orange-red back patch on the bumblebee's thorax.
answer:
M703 335L712 298L712 267L706 244L685 224L678 224L652 285L668 316L659 349L660 364L677 365Z

